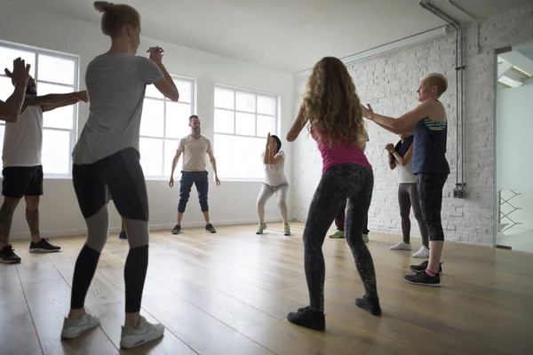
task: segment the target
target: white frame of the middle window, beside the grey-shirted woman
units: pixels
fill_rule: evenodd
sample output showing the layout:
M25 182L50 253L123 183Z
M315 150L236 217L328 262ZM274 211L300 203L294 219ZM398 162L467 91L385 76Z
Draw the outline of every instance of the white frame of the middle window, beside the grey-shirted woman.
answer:
M183 102L183 101L178 101L179 103L182 103L182 104L187 104L187 105L190 105L191 106L191 114L196 114L196 106L197 106L197 99L196 99L196 93L197 93L197 88L196 88L196 85L197 85L197 80L193 77L189 77L189 76L185 76L185 75L174 75L174 74L170 74L171 75L171 78L172 79L175 79L175 80L180 80L180 81L183 81L183 82L190 82L191 83L191 102L188 103L188 102ZM153 84L152 84L153 85ZM163 99L161 98L154 98L154 97L151 97L151 96L146 96L145 94L145 97L144 99L154 99L154 100L157 100L157 101L161 101L161 102L164 102L165 104L163 105L163 137L155 137L155 136L143 136L142 134L139 134L139 140L140 138L145 138L145 139L155 139L155 140L158 140L158 141L163 141L163 165L161 167L162 169L162 175L158 176L158 175L147 175L147 173L145 172L145 180L150 180L150 181L163 181L163 180L168 180L170 178L170 176L166 176L165 175L165 172L164 172L164 165L165 165L165 142L166 141L175 141L176 142L176 146L178 146L179 144L179 140L181 138L166 138L166 119L167 119L167 116L166 116L166 113L167 113L167 107L166 107L166 102L172 102L171 99L167 99L163 96ZM144 110L144 108L143 108ZM188 120L188 117L187 117L187 120ZM142 152L141 152L142 154ZM180 177L181 174L180 174L180 170L176 169L177 171L174 172L174 177Z

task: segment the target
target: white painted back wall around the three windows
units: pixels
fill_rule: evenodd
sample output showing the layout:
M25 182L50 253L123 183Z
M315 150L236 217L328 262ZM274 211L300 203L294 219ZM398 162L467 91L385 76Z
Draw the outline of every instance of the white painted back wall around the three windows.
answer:
M109 45L108 38L101 34L98 26L49 12L39 12L19 4L4 3L0 3L0 39L79 55L82 78L84 78L89 61L96 55L107 51ZM279 94L281 96L281 130L285 131L290 124L293 109L292 75L144 37L141 39L139 54L152 45L161 45L164 48L163 63L171 74L197 79L196 113L203 120L203 134L211 140L213 138L214 83L226 83ZM84 80L80 82L80 85L84 88ZM81 105L79 112L79 127L83 127L88 114L88 106ZM184 117L184 124L187 124L186 117ZM286 170L291 181L291 148L289 145L284 145L284 150L287 154ZM215 151L215 156L216 154ZM235 152L235 159L238 159L238 152ZM222 184L216 187L211 181L209 197L213 224L255 222L257 219L255 201L259 188L258 182L222 181ZM151 227L171 228L176 223L179 188L170 189L166 181L155 180L147 181L147 190ZM116 231L120 228L120 219L112 204L110 211L111 229ZM267 205L267 220L281 220L274 199ZM40 222L44 236L84 233L84 219L77 205L71 180L47 179L44 181ZM203 215L193 189L183 219L183 226L194 225L203 225ZM12 237L28 237L23 203L15 212Z

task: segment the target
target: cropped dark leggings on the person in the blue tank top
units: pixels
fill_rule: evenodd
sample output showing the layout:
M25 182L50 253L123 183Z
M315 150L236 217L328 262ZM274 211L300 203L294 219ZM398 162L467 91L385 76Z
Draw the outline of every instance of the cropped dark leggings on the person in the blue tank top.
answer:
M420 173L417 175L418 198L429 233L429 241L444 241L441 210L442 189L447 178L448 174Z

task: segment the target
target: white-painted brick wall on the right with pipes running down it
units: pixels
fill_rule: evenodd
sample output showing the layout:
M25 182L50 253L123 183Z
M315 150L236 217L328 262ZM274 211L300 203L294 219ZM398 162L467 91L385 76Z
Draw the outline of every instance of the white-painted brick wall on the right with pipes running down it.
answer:
M442 103L449 115L448 154L451 168L444 188L442 221L448 241L492 245L495 216L494 70L495 50L533 41L533 5L501 13L481 23L481 53L475 47L475 30L465 30L465 183L467 199L452 196L456 183L456 79L455 32L377 58L348 66L363 103L380 114L397 117L418 104L419 81L431 72L448 77L449 90ZM295 77L296 98L306 78ZM298 104L295 112L298 110ZM397 207L397 171L386 165L384 146L398 138L372 122L366 154L374 168L374 194L369 212L370 231L401 233ZM293 151L292 216L305 221L321 177L322 160L314 141L302 135ZM304 173L305 171L305 173ZM412 218L412 234L418 226ZM370 237L371 238L371 237Z

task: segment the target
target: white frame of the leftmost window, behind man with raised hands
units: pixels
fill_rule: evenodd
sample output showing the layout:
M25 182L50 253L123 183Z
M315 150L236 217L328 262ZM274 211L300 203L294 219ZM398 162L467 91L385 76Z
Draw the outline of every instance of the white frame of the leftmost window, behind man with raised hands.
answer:
M13 43L9 41L4 41L0 39L0 47L5 48L11 48L14 50L20 50L20 51L32 51L36 54L36 63L35 63L35 77L37 87L39 83L46 83L46 84L52 84L56 86L64 86L68 88L73 88L73 91L79 91L80 89L80 56L76 54L66 53L62 51L53 51L48 50L40 47L36 47L33 45L23 44L23 43ZM39 54L43 54L48 57L56 57L60 59L72 59L74 60L74 84L68 85L64 83L53 83L45 80L39 80ZM0 72L0 76L7 77L4 75L3 72ZM72 178L72 151L74 150L74 146L76 146L76 140L78 136L78 121L79 121L79 104L73 105L73 115L72 115L72 129L64 129L64 128L56 128L56 127L43 127L43 134L44 130L56 130L56 131L63 131L63 132L70 132L70 139L69 139L69 146L68 151L70 152L68 154L68 173L67 174L54 174L54 173L44 173L43 178L44 179L69 179ZM5 122L0 122L0 125L5 126ZM5 131L5 130L4 130ZM3 177L0 173L0 177Z

